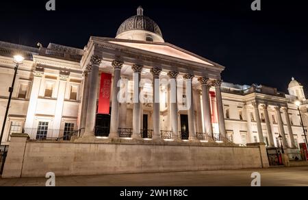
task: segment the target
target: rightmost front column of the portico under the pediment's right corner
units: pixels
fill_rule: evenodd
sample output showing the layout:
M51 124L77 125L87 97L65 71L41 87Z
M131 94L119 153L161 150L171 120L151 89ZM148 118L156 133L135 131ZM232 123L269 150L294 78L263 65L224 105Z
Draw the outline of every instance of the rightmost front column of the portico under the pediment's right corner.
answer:
M222 105L222 97L221 97L221 80L216 79L213 82L213 85L215 87L215 93L216 93L216 103L217 103L217 115L218 115L218 124L219 124L219 134L222 137L226 137L226 125L224 125L224 109Z

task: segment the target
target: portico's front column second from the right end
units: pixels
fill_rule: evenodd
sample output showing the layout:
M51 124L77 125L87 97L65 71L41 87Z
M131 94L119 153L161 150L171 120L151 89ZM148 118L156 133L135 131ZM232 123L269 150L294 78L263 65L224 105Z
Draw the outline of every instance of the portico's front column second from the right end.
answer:
M205 134L213 137L213 127L211 125L211 105L209 103L209 88L211 85L208 84L209 79L206 77L198 78L201 83L202 89L202 106L203 106L203 124L205 127Z

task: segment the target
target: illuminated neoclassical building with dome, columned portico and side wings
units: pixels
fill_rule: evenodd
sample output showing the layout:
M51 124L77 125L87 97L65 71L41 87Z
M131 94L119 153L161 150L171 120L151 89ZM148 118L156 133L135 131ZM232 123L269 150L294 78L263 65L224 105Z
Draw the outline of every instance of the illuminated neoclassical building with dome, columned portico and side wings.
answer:
M90 37L84 49L0 42L1 127L17 54L25 60L18 66L2 144L18 133L64 142L264 142L294 150L305 143L300 114L306 128L308 101L296 79L285 80L291 81L288 94L222 82L224 66L165 42L141 7L116 38ZM178 84L155 84L163 80ZM121 90L126 101L119 101Z

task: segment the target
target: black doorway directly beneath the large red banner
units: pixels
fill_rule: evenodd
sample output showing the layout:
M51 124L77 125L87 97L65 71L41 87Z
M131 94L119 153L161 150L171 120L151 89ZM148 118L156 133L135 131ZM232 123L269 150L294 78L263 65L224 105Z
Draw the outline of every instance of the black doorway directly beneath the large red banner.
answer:
M111 108L110 108L111 112ZM107 137L110 132L110 114L97 114L95 136Z

